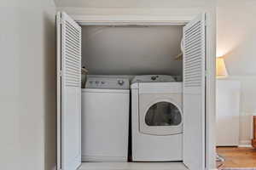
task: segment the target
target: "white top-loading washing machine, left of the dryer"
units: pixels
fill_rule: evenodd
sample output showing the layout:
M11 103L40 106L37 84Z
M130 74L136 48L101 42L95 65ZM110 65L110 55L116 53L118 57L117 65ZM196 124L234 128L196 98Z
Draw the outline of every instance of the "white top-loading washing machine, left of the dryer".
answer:
M127 161L130 83L88 77L82 89L82 161Z

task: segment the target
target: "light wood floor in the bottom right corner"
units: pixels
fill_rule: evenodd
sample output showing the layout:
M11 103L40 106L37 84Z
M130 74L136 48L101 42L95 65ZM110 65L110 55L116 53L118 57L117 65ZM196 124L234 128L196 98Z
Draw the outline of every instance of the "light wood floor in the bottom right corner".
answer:
M256 149L248 147L217 147L217 152L225 159L221 167L256 167ZM218 162L217 165L219 165Z

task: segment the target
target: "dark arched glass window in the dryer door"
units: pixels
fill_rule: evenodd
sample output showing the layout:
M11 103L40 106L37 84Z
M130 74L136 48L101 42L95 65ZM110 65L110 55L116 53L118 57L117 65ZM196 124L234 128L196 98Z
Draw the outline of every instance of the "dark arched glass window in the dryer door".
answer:
M145 123L149 127L178 126L181 122L182 115L177 106L166 101L151 105L145 116Z

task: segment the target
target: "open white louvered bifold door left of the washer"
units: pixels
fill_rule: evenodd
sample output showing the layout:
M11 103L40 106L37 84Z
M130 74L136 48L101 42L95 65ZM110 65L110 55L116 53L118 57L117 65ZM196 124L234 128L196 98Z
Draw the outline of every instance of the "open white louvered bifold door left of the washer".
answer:
M57 14L58 169L81 164L81 27Z

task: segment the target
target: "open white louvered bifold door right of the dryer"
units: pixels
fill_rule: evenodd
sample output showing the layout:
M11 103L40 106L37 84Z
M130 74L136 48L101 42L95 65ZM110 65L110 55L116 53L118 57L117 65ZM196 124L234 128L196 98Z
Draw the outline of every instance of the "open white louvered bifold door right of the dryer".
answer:
M183 162L205 169L205 14L183 27Z

